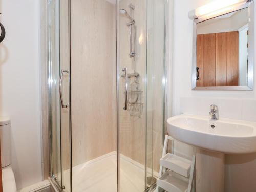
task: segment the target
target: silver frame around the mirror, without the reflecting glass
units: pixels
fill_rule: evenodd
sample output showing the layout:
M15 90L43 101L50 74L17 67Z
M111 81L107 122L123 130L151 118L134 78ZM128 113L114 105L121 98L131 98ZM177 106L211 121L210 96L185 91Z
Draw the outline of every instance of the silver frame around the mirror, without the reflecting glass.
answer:
M210 87L197 87L197 24L215 18L221 15L225 15L241 9L249 9L249 49L248 49L248 82L247 86L210 86ZM221 14L215 14L214 16L202 16L194 19L193 21L193 62L192 62L192 90L219 90L219 91L252 91L253 90L253 68L254 68L254 1L247 1L242 5L232 6L232 9L224 11Z

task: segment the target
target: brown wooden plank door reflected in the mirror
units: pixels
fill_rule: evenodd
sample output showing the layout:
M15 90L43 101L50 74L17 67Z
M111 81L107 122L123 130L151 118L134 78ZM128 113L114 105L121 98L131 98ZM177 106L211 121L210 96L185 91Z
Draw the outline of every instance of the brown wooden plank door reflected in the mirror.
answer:
M198 87L239 86L238 45L237 31L198 35Z

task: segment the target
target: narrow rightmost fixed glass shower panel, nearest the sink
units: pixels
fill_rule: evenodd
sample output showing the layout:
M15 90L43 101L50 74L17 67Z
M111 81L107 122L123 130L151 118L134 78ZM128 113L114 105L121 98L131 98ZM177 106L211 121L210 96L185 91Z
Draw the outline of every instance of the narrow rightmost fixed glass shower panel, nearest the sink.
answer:
M147 186L156 182L165 121L165 0L147 0Z

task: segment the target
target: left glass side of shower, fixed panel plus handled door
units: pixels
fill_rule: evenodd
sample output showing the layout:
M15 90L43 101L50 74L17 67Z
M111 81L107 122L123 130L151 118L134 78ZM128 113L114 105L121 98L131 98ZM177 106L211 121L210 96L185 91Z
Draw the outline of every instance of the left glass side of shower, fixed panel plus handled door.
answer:
M50 174L56 186L67 192L71 191L68 2L48 2Z

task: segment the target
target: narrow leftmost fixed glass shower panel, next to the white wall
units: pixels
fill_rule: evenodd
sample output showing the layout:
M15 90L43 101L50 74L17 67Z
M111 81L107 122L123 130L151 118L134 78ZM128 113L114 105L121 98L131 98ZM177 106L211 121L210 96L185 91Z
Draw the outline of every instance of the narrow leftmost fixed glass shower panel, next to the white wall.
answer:
M49 121L51 129L51 175L61 186L61 140L59 80L59 6L58 1L49 1Z

